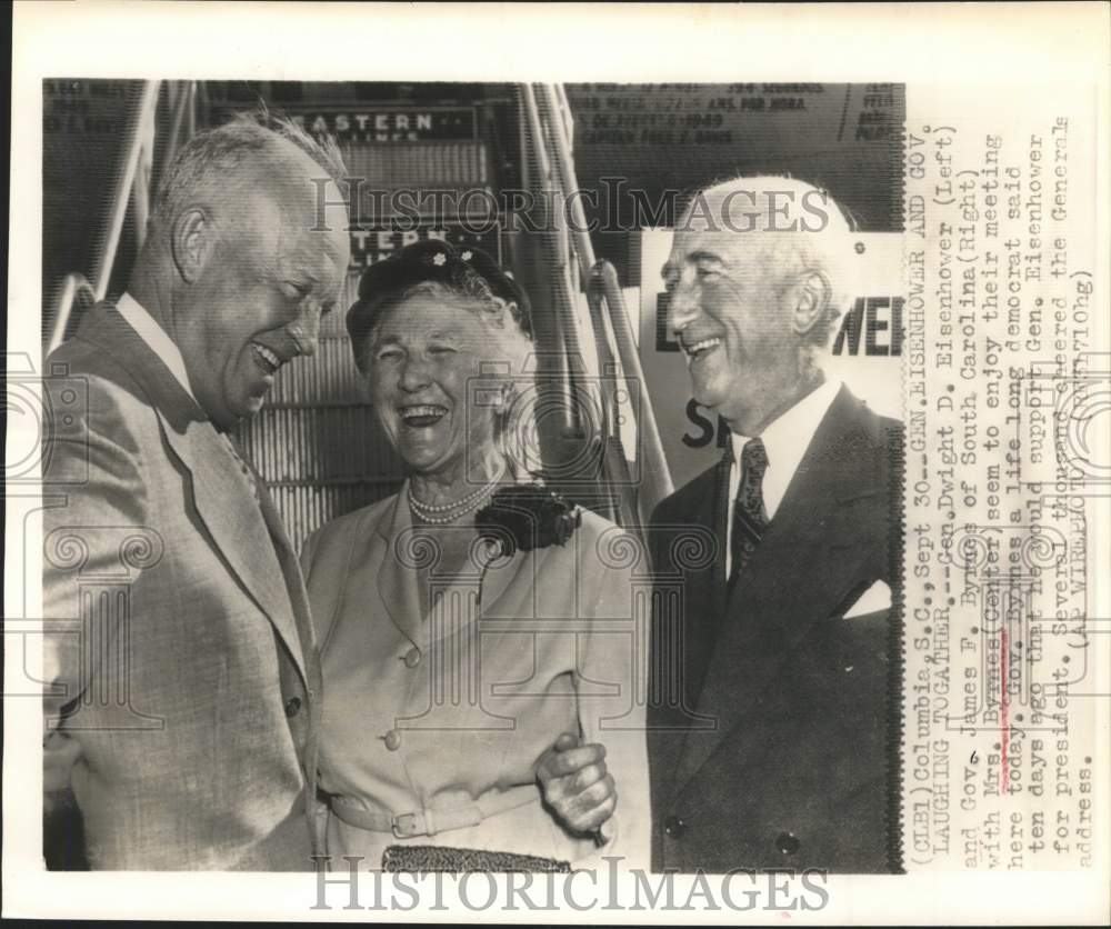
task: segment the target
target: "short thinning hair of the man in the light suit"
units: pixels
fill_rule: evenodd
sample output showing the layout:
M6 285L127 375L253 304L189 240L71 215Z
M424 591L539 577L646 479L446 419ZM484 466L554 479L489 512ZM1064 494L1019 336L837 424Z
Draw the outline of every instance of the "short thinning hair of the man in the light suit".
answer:
M226 187L229 177L250 167L252 161L264 162L274 143L282 140L308 154L342 190L347 168L336 141L330 136L320 141L293 120L259 107L236 113L222 126L189 140L159 183L152 221L169 224L198 190L216 184Z

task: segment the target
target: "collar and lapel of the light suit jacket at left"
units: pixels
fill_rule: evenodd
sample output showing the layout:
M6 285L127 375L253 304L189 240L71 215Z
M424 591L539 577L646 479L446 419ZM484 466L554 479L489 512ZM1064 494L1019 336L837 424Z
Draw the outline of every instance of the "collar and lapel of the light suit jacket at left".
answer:
M220 434L118 312L104 304L96 308L82 323L79 337L110 353L147 392L167 444L189 476L198 517L244 590L281 636L303 676L303 633L291 603L297 586L290 587L283 576L262 511ZM277 538L288 548L280 520L277 529ZM303 598L303 586L301 595ZM308 607L304 609L308 616Z

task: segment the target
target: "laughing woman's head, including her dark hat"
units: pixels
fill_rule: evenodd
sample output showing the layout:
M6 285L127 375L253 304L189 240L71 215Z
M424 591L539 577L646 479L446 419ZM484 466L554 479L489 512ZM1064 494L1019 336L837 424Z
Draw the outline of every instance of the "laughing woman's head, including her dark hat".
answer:
M348 328L417 498L438 506L513 472L504 427L531 351L530 308L484 252L430 241L372 266Z

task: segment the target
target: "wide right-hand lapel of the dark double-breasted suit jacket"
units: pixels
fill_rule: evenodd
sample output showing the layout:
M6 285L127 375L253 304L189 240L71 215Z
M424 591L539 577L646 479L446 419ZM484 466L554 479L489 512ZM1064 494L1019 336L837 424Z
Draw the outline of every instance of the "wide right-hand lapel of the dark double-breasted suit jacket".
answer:
M867 546L838 546L852 541L874 506L871 469L854 441L855 407L848 391L838 394L728 599L697 703L718 726L687 739L677 788L774 687L780 666L815 622L835 611L867 558ZM833 548L841 549L837 557Z

